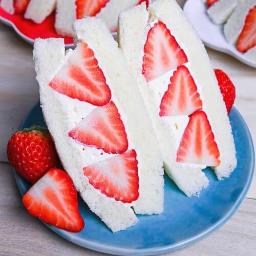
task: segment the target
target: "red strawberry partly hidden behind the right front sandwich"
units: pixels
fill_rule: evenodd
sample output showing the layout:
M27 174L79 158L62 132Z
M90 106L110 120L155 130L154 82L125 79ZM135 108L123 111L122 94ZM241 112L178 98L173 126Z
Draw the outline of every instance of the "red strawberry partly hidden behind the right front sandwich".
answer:
M229 114L234 103L234 99L236 98L236 88L223 70L215 69L214 71L220 86L223 100L226 104L227 114Z

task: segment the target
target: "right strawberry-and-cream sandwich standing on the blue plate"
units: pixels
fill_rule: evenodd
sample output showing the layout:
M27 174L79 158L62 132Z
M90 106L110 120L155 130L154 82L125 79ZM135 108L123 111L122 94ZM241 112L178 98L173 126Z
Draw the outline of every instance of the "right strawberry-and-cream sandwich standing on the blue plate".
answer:
M218 81L202 41L175 0L120 13L119 47L136 77L155 128L166 173L187 195L199 195L237 165Z

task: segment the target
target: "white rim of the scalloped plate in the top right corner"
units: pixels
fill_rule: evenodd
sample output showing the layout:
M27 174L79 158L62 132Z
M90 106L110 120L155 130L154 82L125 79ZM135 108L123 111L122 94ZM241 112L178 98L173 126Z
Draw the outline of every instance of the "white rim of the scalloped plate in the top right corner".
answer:
M200 7L204 6L204 10L206 10L205 4L201 0L186 0L185 4L183 6L183 11L184 11L187 19L193 25L193 27L197 31L197 34L199 35L198 27L196 26L197 24L192 22L192 20L190 19L191 15L189 15L190 14L189 9L191 9L191 6L193 6L193 8L195 10L198 10L198 8L195 7L197 5L200 6ZM204 19L207 18L207 20L209 20L209 17L205 13L200 13L200 14L202 14L202 17ZM201 20L201 22L203 22L203 20ZM211 22L211 23L212 23L212 26L214 26L216 28L220 28L221 26L223 26L223 25L214 24L213 22ZM223 34L221 36L225 39ZM243 62L244 64L246 64L246 65L248 65L248 66L250 66L252 68L256 68L256 61L252 61L252 60L246 58L245 56L243 56L243 54L240 53L236 48L234 48L233 45L228 44L226 39L225 39L225 42L226 42L225 46L222 46L222 47L221 46L216 46L214 44L211 44L210 39L207 40L205 38L201 38L201 40L203 41L205 46L207 46L207 47L209 47L211 49L214 49L216 51L226 53L226 54L236 58L237 60Z

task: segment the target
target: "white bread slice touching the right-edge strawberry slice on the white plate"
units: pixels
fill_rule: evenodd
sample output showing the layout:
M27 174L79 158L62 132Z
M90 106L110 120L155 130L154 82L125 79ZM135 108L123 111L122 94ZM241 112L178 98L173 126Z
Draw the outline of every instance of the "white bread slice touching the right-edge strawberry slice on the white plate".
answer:
M240 0L236 9L234 9L234 12L224 25L224 35L229 44L236 44L242 32L245 18L254 5L256 5L256 0Z

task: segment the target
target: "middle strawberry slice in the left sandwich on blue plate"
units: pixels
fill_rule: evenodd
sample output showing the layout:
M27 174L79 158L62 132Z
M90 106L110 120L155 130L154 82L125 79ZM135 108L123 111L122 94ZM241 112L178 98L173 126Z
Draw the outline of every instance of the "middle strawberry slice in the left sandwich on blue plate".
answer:
M122 154L128 148L125 128L113 101L94 109L69 132L69 137L106 153Z

